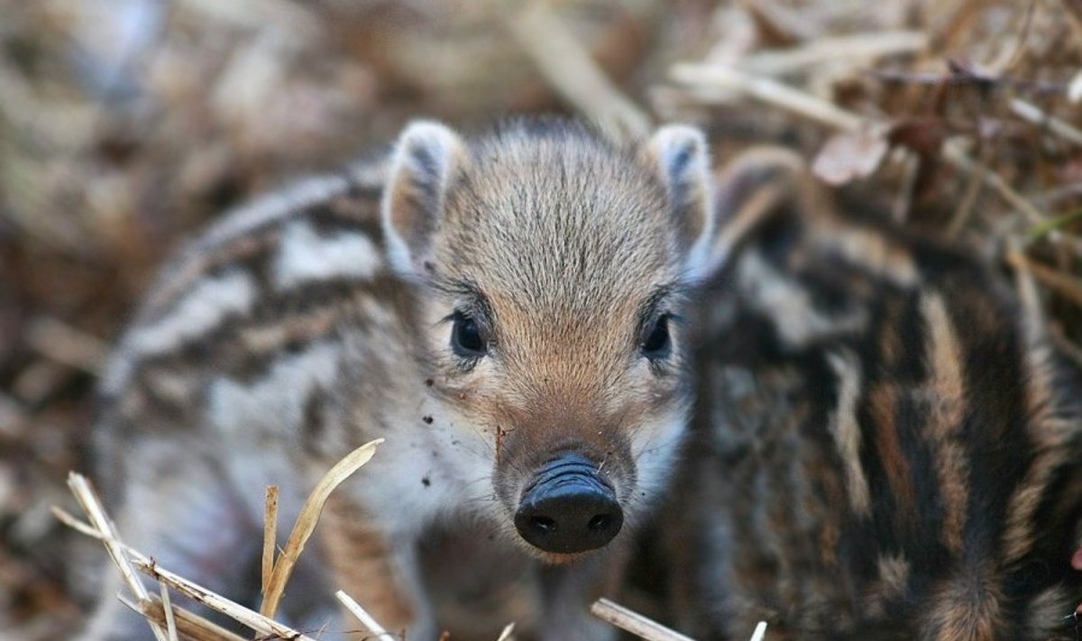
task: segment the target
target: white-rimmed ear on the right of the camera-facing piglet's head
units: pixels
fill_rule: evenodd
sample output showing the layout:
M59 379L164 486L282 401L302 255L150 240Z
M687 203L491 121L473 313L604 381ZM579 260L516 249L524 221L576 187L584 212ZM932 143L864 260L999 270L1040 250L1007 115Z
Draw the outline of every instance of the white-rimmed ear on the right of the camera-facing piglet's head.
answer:
M687 252L688 276L691 279L707 276L704 272L713 263L709 252L715 221L705 136L694 127L669 125L655 132L642 154L668 193L673 223Z

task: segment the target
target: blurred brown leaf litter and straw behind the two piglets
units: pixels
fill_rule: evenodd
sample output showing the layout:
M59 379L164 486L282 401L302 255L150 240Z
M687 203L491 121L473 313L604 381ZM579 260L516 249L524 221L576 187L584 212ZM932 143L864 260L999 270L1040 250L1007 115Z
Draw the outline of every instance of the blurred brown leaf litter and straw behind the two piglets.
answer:
M795 148L1031 278L1082 362L1080 0L0 0L0 638L81 619L49 508L166 254L411 118L537 112Z

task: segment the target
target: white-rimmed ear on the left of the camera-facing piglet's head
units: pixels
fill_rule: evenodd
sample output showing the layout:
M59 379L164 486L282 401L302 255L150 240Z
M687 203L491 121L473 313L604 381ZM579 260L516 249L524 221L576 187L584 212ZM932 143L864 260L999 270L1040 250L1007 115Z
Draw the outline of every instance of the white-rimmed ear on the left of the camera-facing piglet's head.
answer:
M438 122L412 122L398 138L382 208L391 263L400 274L423 274L448 186L466 161L462 140Z

